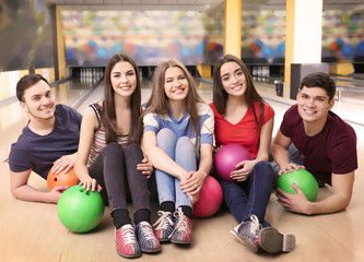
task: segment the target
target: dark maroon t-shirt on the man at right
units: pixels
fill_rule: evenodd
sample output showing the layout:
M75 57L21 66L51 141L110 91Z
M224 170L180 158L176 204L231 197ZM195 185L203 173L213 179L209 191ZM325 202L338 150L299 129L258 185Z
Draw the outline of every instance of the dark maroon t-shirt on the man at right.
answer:
M332 111L322 131L307 136L297 105L294 105L284 114L280 130L291 138L306 169L329 184L331 172L348 174L357 168L355 131Z

